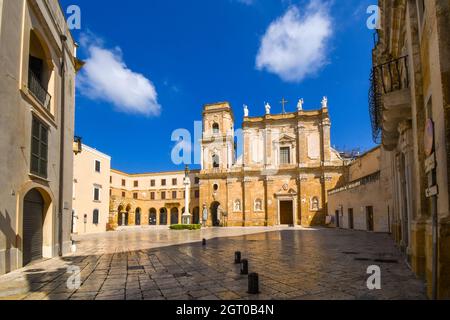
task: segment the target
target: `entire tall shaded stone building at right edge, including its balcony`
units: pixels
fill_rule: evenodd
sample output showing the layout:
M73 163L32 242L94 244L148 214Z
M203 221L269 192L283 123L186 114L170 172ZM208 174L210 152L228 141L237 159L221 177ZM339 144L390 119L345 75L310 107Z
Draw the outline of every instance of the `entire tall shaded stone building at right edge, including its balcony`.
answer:
M430 297L450 298L450 4L379 6L371 114L391 153L392 231Z

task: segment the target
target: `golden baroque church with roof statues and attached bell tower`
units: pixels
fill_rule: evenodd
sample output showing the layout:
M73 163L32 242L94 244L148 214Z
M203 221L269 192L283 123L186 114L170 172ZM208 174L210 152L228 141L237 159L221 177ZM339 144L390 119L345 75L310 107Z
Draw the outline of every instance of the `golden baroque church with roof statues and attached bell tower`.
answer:
M327 191L343 174L330 144L327 100L322 108L249 117L245 106L242 134L234 129L228 103L203 109L200 203L210 226L323 225ZM240 136L242 156L236 158ZM238 139L239 140L239 139Z

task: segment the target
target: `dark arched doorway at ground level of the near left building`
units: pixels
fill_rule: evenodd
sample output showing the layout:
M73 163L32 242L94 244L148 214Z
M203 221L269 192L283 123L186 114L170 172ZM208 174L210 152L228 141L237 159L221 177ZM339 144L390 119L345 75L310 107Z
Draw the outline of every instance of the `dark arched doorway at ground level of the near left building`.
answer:
M33 189L27 193L23 204L23 266L42 259L43 225L44 198Z

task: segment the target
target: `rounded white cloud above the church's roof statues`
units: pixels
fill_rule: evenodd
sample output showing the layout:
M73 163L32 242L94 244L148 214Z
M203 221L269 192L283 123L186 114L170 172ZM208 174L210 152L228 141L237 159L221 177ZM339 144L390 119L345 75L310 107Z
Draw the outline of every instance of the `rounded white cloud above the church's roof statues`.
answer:
M256 68L300 82L327 64L327 43L332 35L328 5L311 0L301 14L297 6L269 26L261 40Z

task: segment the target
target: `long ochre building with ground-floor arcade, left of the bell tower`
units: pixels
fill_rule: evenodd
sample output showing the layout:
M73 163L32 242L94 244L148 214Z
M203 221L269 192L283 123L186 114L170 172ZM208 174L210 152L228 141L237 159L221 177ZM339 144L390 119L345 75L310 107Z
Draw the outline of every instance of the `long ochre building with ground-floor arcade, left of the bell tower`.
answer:
M109 230L181 223L186 208L185 171L127 174L111 170ZM188 174L189 213L200 223L198 171Z

